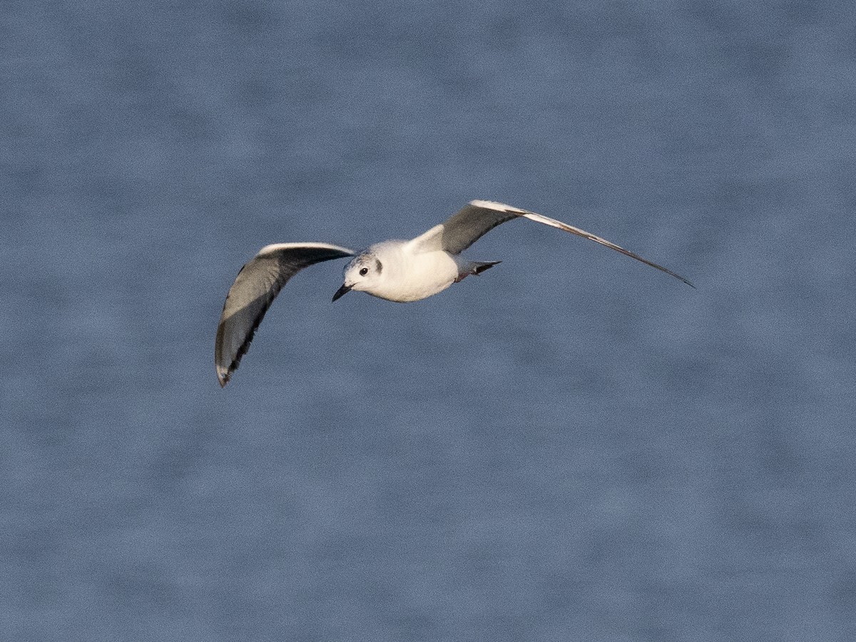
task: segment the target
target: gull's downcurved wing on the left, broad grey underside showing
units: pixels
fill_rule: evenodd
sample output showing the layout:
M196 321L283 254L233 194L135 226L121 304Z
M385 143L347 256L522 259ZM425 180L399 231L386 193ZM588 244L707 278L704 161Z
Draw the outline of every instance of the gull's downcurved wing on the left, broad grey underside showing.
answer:
M241 268L226 294L217 326L214 363L221 386L229 383L265 312L288 279L309 265L348 256L354 252L327 243L276 243L263 247Z

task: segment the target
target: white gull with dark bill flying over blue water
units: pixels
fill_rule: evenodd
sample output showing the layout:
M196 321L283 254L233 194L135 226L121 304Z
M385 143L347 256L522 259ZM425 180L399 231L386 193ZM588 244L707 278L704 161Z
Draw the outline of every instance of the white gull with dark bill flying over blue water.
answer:
M415 239L383 241L359 253L329 243L275 243L262 247L238 272L223 304L214 349L220 386L229 383L229 378L241 363L241 357L247 354L253 335L276 294L303 268L322 261L353 257L345 265L342 287L333 295L334 301L351 290L399 303L418 301L500 263L472 261L461 257L461 252L497 225L519 217L595 241L695 287L663 265L643 259L568 223L511 205L473 200L454 216Z

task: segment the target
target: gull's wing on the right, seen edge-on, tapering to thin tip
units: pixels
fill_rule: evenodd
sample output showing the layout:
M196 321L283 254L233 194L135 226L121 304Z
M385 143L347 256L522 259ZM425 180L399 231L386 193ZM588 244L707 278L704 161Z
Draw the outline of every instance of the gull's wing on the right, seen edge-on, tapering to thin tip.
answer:
M669 276L674 276L676 279L687 283L691 288L695 288L693 283L687 281L680 274L675 274L672 270L667 270L663 265L657 265L648 259L643 259L639 254L634 254L623 247L615 245L600 236L586 232L584 229L575 228L568 223L556 221L555 218L549 218L536 214L533 211L520 210L511 205L503 205L502 203L494 203L490 200L471 200L461 211L449 217L443 223L429 229L424 235L417 236L413 241L413 247L424 252L445 250L451 254L459 254L478 241L482 236L490 232L497 225L510 221L512 218L523 217L544 225L550 225L557 229L562 229L565 232L570 232L583 238L595 241L603 246L609 247L620 252L631 259L641 261L645 265L651 265L657 270L661 270Z

